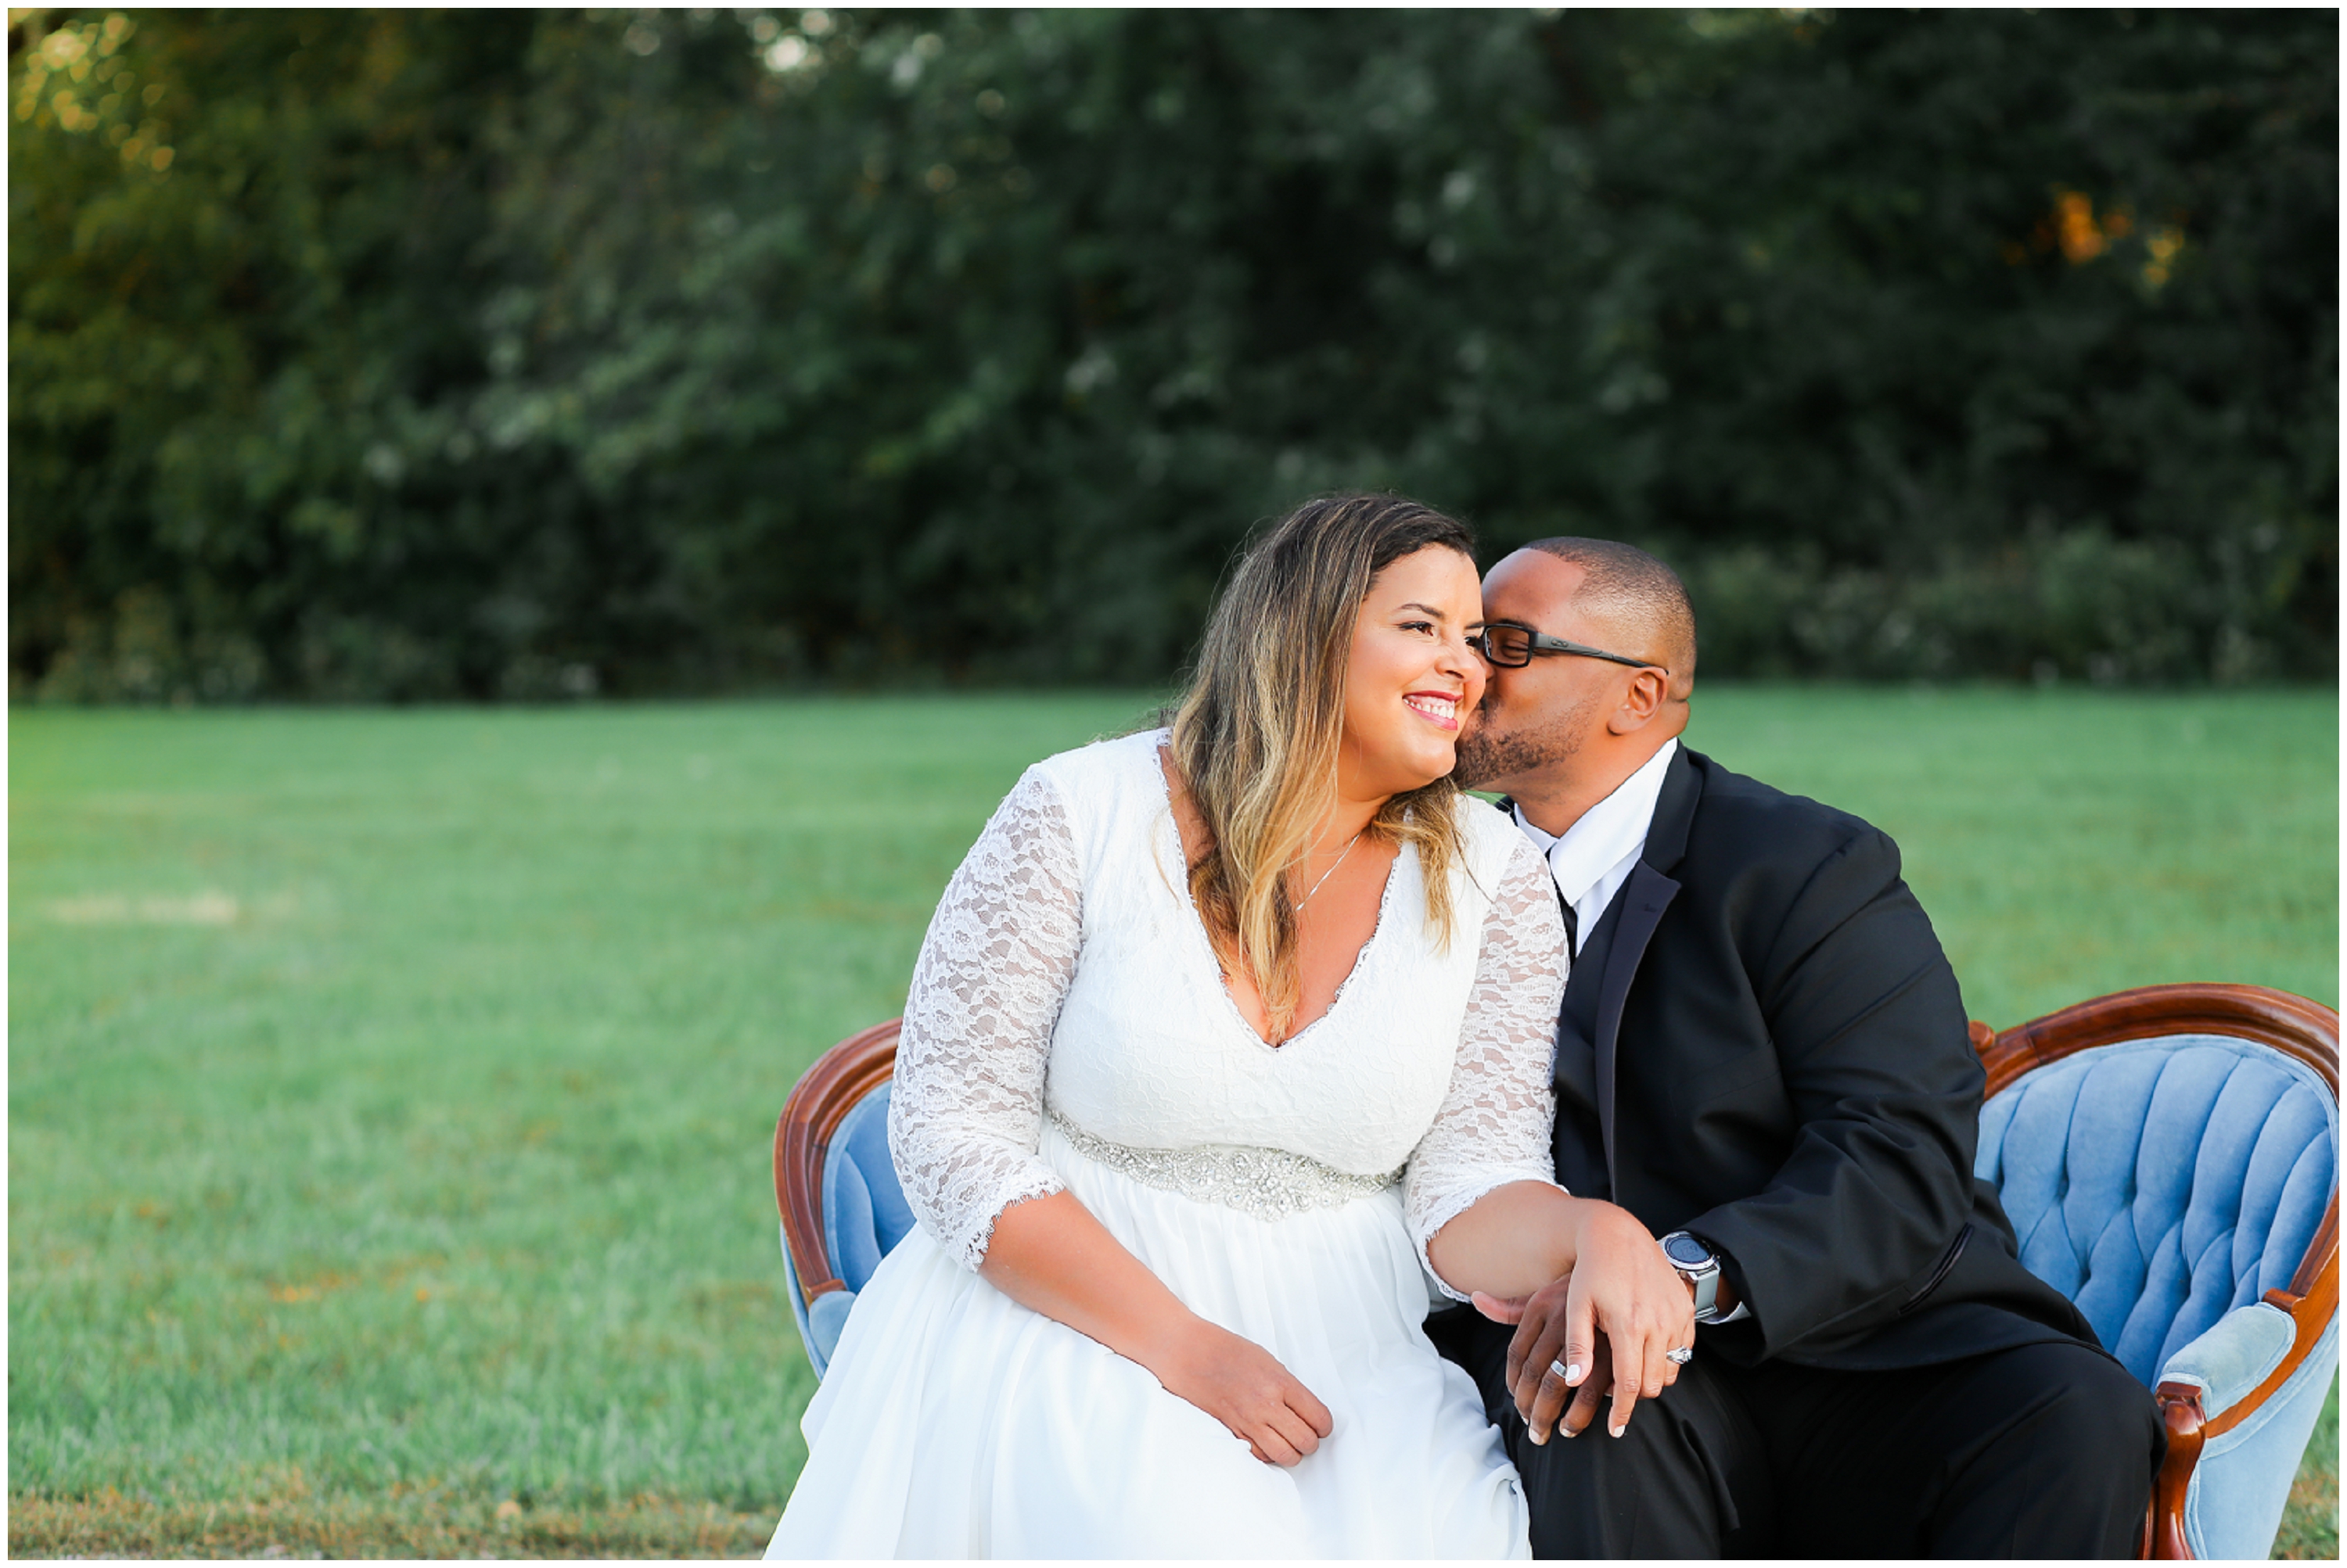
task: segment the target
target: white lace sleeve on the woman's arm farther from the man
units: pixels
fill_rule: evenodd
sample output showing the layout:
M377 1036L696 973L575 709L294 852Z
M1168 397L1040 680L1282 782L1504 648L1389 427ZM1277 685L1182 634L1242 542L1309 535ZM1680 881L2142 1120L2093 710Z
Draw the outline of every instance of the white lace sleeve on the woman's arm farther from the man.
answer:
M969 1268L1005 1209L1063 1185L1035 1150L1082 887L1058 791L1030 770L946 883L913 965L887 1145L915 1218Z

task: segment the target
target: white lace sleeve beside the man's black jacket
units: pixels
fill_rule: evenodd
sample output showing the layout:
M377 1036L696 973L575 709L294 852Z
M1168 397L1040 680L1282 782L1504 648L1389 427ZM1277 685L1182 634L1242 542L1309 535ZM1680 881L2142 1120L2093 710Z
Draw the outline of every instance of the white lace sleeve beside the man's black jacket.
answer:
M1434 1127L1411 1153L1401 1202L1427 1263L1427 1239L1462 1209L1511 1181L1556 1185L1549 1136L1556 1124L1556 1007L1565 979L1558 955L1565 922L1556 913L1549 866L1530 840L1516 845L1500 873L1490 913L1483 915L1483 948L1460 1054L1450 1066L1450 1091ZM1467 1300L1450 1282L1427 1275L1455 1300Z

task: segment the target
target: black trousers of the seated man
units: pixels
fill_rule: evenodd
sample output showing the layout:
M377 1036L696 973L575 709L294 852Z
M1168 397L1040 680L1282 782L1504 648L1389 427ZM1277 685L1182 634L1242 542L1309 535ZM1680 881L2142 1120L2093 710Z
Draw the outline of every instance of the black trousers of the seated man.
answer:
M1427 1322L1474 1376L1533 1505L1533 1556L2133 1556L2166 1432L2086 1345L1901 1371L1702 1354L1622 1437L1526 1437L1509 1329Z

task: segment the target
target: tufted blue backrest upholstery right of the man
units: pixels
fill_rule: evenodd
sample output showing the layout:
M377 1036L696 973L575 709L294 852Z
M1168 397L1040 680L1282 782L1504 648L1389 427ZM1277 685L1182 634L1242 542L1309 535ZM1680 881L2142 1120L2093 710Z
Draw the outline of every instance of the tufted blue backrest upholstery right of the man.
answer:
M2077 1052L1981 1110L2021 1261L2145 1385L2234 1307L2288 1289L2331 1199L2338 1101L2309 1068L2220 1035Z

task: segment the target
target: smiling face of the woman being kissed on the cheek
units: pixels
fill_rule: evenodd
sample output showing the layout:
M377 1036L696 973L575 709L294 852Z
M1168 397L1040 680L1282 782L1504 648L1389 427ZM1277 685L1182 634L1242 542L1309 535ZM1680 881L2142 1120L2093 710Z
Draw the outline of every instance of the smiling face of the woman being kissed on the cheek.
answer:
M1342 796L1399 796L1450 772L1483 699L1483 660L1467 646L1481 624L1483 584L1455 549L1429 545L1371 580L1345 669Z

